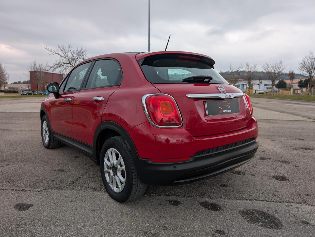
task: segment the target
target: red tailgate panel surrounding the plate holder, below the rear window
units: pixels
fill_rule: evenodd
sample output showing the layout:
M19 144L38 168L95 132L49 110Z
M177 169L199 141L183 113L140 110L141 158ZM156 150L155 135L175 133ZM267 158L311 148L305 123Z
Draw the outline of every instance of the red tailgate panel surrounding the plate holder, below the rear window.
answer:
M172 95L184 119L183 128L192 136L221 134L245 128L251 114L243 97L238 97L240 113L207 116L205 99L187 98L187 94L220 93L219 84L154 84L162 93ZM227 93L242 93L232 85L224 85Z

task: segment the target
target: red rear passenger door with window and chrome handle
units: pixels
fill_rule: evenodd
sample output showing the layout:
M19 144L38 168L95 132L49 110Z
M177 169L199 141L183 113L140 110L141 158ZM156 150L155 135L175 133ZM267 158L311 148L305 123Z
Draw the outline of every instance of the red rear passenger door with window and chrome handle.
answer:
M120 64L113 59L95 61L90 71L72 106L72 134L74 142L81 148L86 144L93 145L94 133L101 123L106 103L118 89L123 76Z

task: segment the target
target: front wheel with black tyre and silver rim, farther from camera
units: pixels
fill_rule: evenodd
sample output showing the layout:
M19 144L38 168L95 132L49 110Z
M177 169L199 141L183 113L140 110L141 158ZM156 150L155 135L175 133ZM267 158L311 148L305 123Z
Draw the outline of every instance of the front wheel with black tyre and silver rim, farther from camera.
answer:
M49 119L44 115L41 120L41 134L44 147L54 149L61 146L61 142L56 140L51 133Z

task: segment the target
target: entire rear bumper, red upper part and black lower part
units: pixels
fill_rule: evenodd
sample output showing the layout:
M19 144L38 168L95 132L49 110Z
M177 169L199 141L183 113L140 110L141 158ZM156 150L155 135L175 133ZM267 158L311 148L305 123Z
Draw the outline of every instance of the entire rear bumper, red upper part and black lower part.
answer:
M128 134L138 153L139 177L151 185L177 185L218 175L243 165L258 149L254 117L246 128L211 136L192 137L182 127L161 129L149 122Z

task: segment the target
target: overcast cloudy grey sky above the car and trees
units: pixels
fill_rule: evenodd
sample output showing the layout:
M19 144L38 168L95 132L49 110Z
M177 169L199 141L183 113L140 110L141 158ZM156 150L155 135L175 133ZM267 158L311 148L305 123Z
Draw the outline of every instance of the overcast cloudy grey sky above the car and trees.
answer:
M296 69L315 51L315 1L151 0L151 51L211 56L217 71L239 63L282 59ZM71 43L88 56L147 51L148 0L0 0L0 62L10 82L26 79L27 65L52 63L45 46ZM288 70L287 70L288 71Z

